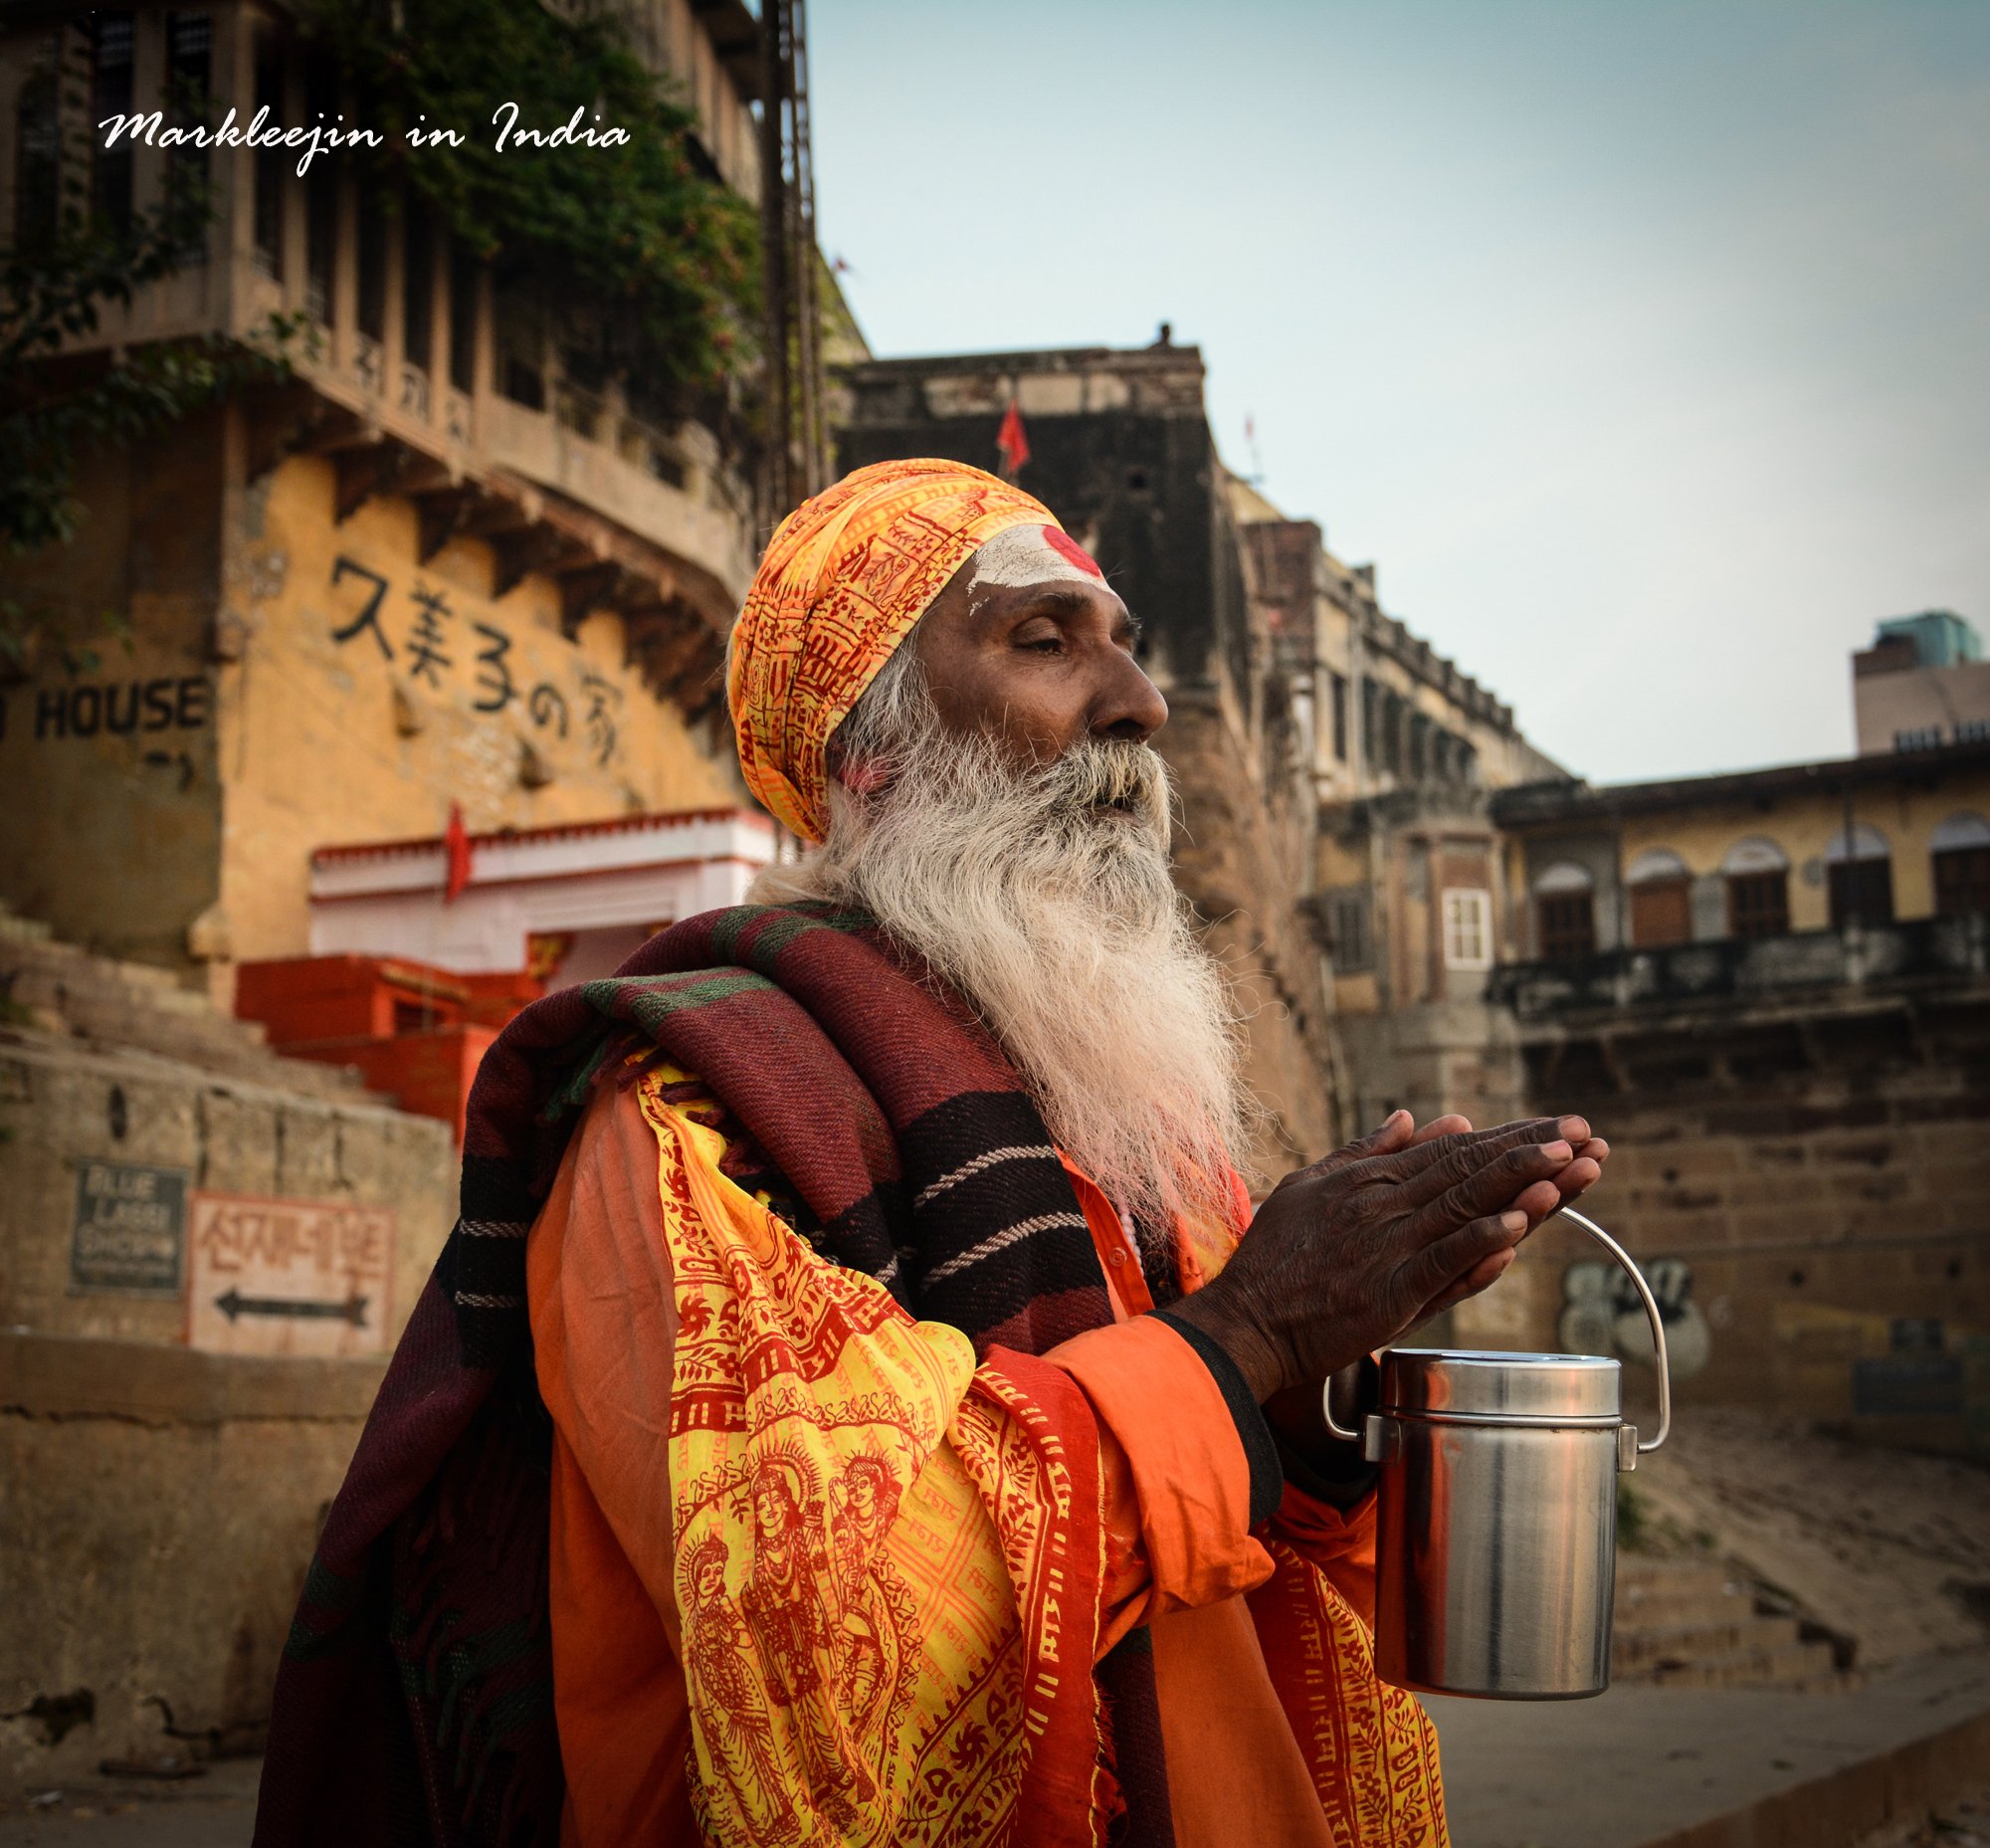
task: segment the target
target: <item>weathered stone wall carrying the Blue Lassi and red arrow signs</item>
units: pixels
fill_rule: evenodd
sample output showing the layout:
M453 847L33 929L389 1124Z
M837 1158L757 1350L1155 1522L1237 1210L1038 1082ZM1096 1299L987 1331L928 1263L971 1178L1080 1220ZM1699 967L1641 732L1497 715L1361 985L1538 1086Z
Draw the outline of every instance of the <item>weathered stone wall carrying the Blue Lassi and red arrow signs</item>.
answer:
M48 1788L255 1742L316 1525L454 1219L456 1155L446 1125L271 1055L163 972L0 922L0 1482L20 1486L0 1498L0 1788ZM96 1173L183 1191L177 1280L105 1274L117 1253L80 1237ZM392 1213L366 1284L384 1302L330 1324L352 1352L189 1342L213 1195Z

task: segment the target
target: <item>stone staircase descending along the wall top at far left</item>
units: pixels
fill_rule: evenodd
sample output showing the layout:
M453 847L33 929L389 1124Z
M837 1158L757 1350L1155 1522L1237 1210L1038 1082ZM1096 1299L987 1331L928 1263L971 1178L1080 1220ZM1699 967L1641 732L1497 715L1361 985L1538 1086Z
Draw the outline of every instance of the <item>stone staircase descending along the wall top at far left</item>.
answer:
M26 1030L125 1047L330 1103L382 1103L344 1065L289 1059L261 1022L235 1020L171 970L94 956L0 906L0 1034Z

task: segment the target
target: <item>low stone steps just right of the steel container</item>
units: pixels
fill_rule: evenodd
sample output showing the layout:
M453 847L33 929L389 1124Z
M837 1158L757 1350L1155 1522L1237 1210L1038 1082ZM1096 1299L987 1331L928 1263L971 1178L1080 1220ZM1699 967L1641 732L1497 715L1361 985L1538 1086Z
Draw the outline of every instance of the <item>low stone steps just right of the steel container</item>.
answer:
M1664 1687L1843 1689L1841 1649L1715 1559L1618 1555L1610 1679Z

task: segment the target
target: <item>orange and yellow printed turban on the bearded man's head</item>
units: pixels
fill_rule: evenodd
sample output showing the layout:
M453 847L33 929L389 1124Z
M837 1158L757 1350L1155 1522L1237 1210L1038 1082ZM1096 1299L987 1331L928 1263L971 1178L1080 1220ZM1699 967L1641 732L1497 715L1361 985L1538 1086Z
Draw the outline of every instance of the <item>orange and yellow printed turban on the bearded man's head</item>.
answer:
M947 579L1011 526L1057 518L979 468L929 458L874 462L780 522L726 683L746 787L776 820L824 836L830 733Z

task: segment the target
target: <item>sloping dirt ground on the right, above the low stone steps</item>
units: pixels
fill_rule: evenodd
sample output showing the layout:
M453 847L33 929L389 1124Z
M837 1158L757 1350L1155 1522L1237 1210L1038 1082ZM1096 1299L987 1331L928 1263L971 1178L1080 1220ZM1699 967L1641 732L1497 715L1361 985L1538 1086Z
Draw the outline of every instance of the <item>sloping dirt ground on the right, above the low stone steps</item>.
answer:
M1688 1406L1622 1480L1642 1545L1743 1565L1851 1637L1861 1669L1990 1641L1990 1466Z

